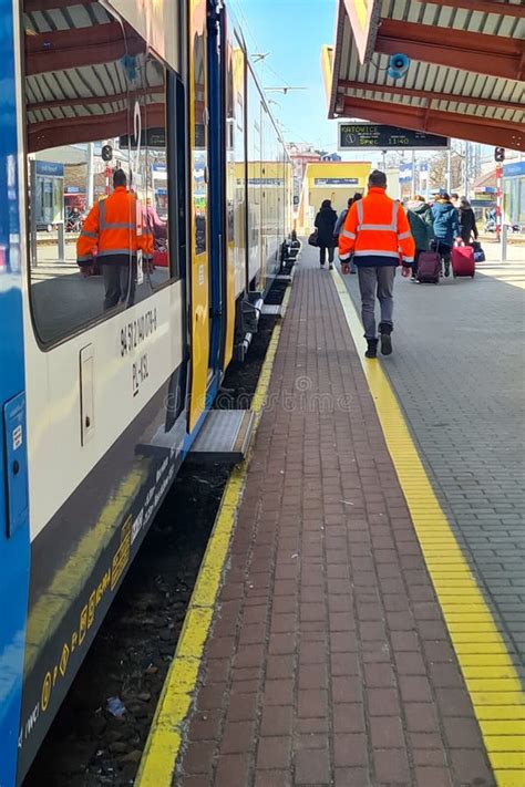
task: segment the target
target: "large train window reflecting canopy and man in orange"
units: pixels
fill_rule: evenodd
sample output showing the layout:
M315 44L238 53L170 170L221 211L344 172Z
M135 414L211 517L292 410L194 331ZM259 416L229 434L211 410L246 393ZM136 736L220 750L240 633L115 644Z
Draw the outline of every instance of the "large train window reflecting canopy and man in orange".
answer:
M50 343L177 275L175 77L99 2L23 7L31 307Z

